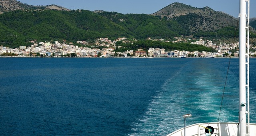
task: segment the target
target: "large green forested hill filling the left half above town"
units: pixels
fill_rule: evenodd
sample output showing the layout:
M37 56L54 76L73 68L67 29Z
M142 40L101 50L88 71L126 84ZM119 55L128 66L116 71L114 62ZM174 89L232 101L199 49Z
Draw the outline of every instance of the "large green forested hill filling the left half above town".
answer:
M0 44L11 48L29 40L88 40L125 36L121 26L93 12L15 11L0 15Z

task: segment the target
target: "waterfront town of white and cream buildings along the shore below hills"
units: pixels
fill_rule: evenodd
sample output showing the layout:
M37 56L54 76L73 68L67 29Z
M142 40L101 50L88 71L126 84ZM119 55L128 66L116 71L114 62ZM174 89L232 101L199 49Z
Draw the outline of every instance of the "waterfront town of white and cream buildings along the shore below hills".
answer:
M183 38L175 38L175 41L166 41L163 39L158 39L162 42L190 42L191 39L183 39ZM148 38L148 40L152 40ZM193 39L196 40L196 39ZM216 50L216 52L189 52L185 50L172 50L166 51L161 48L149 48L148 51L144 51L143 49L127 50L125 52L115 52L115 48L122 48L120 46L116 46L117 41L122 41L123 43L130 42L127 41L126 38L118 38L116 40L109 40L108 38L99 38L96 39L94 43L95 46L100 48L88 48L85 45L88 45L86 41L77 41L76 46L73 45L72 42L60 43L58 41L55 42L37 42L36 40L30 41L31 45L20 46L19 48L8 48L5 46L0 46L0 56L3 56L4 53L12 53L14 56L19 57L32 57L32 56L41 56L41 57L238 57L239 55L239 42L234 44L214 44L212 41L198 39L196 42L190 42L191 44L200 44L206 47L212 47ZM78 47L81 45L81 47ZM84 45L84 46L82 46ZM255 49L255 47L251 47ZM235 52L232 54L230 50L234 50ZM250 56L255 56L255 52L250 52Z

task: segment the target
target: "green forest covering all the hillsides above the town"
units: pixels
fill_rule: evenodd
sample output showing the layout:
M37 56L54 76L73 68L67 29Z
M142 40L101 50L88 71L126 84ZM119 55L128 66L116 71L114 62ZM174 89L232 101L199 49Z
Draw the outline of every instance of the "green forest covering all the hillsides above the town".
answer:
M198 25L192 21L192 18L199 17L190 14L167 20L166 17L147 14L94 13L88 10L70 12L16 10L0 15L0 45L10 48L29 46L30 40L48 42L68 40L76 43L78 40L93 41L95 38L114 40L118 37L126 37L143 40L148 37L173 38L173 36L193 34L197 37L214 38L234 36L233 27L214 32L204 30L190 32L186 23L190 20L190 25ZM130 45L128 48L134 50L134 46Z

